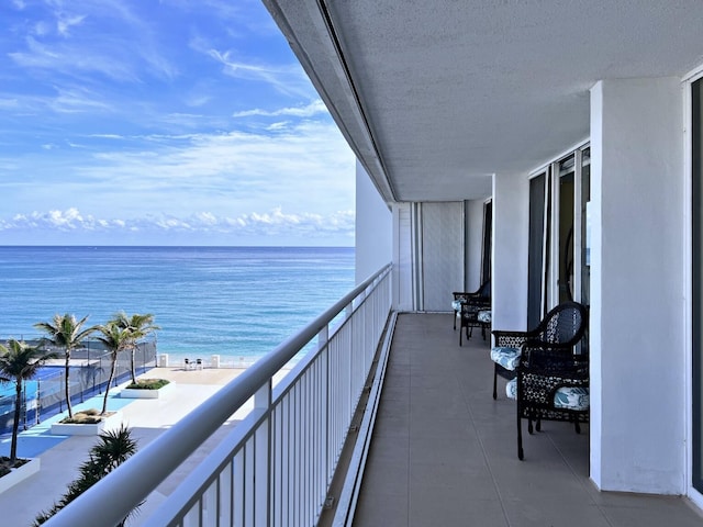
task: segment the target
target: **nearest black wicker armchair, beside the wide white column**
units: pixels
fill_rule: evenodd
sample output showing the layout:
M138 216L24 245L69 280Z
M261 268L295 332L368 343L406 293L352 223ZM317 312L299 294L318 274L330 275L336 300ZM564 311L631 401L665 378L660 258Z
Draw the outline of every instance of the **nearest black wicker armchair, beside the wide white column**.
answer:
M516 400L517 457L522 460L522 419L527 419L529 434L533 423L539 431L543 421L573 423L577 434L579 424L589 422L588 357L574 355L571 346L527 341L506 391Z

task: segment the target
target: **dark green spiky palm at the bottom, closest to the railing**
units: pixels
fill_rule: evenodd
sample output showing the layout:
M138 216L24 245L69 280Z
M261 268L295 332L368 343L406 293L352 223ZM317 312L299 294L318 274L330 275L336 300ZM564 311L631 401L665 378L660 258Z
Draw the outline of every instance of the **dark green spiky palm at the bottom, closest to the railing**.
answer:
M98 483L101 479L125 462L136 452L136 441L132 439L132 430L122 425L116 430L103 431L99 436L99 442L90 449L90 456L79 467L79 476L68 485L68 490L54 506L45 513L41 513L34 519L34 526L42 525L58 513L83 492ZM123 526L124 518L119 526Z

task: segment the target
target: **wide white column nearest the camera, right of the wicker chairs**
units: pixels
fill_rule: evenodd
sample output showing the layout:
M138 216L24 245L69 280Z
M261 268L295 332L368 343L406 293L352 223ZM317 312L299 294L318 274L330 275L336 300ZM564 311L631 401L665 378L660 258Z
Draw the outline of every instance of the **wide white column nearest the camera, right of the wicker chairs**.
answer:
M591 478L685 493L683 130L674 78L591 90Z

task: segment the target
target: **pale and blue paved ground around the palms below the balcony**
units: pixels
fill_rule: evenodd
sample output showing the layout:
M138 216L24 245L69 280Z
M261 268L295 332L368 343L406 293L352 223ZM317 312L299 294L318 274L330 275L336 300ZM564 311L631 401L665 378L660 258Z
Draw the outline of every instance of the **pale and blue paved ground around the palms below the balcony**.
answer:
M120 390L126 385L121 384L110 391L109 410L120 407L123 422L132 428L132 437L138 441L142 448L158 437L163 431L197 408L207 397L214 394L226 383L241 374L243 369L191 369L183 368L155 368L140 378L164 378L175 383L166 397L157 400L124 400L120 399ZM98 400L98 401L97 401ZM101 397L93 397L75 405L75 410L83 407L97 407ZM230 431L242 418L248 408L242 408L224 426L205 441L198 450L186 460L179 469L168 476L158 489L149 495L141 507L141 514L130 522L131 526L141 525L150 513L168 496L180 483L182 478L197 466L207 453ZM2 509L2 525L29 526L41 511L47 509L65 492L66 486L77 475L78 466L88 457L88 450L96 442L94 437L80 436L52 436L51 423L57 421L53 417L46 422L22 431L19 441L20 457L30 457L32 451L37 451L42 460L42 468L37 474L32 475L22 483L0 494L0 509ZM3 437L0 444L3 455L9 451L9 437Z

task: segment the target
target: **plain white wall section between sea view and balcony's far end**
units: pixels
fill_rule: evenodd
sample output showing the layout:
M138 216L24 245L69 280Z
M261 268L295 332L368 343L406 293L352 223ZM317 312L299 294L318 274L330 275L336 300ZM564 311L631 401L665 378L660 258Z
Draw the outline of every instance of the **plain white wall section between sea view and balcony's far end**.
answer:
M393 217L359 161L356 162L356 283L391 261Z

